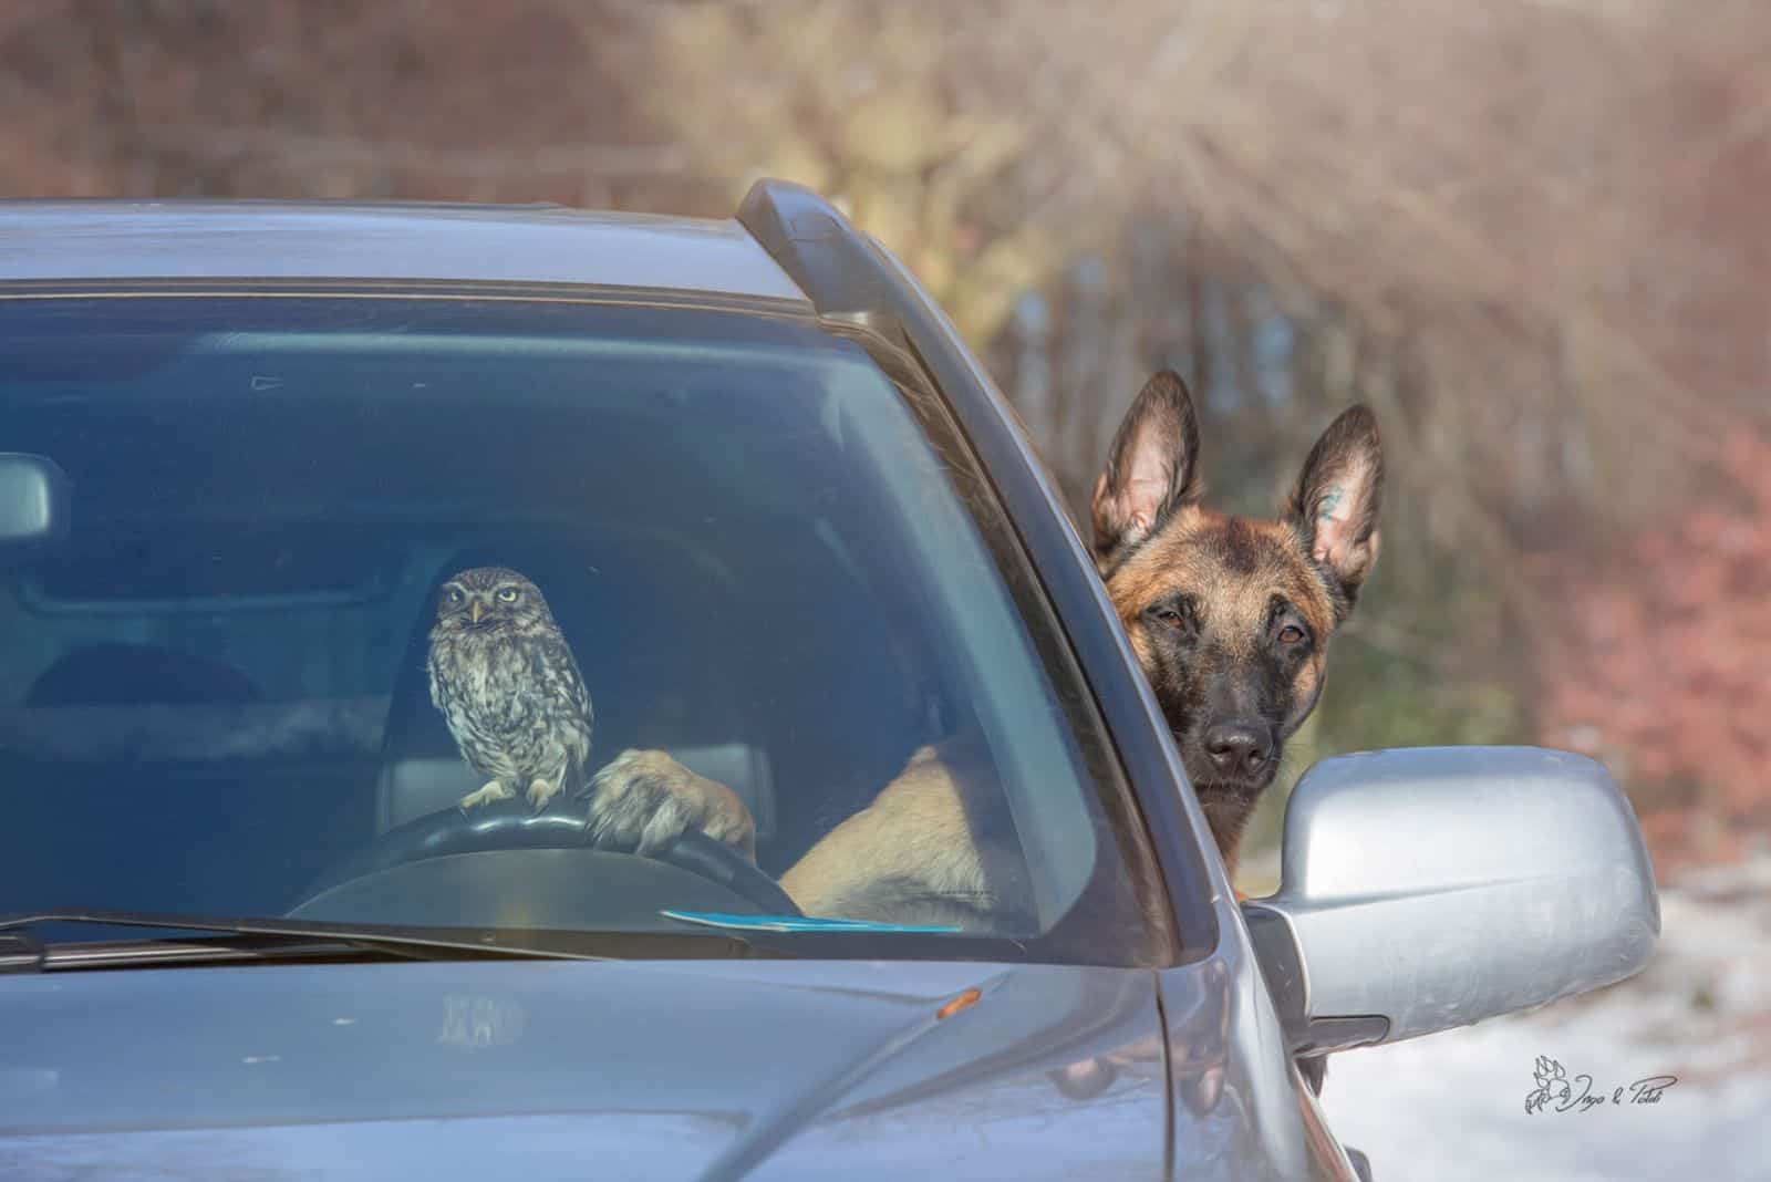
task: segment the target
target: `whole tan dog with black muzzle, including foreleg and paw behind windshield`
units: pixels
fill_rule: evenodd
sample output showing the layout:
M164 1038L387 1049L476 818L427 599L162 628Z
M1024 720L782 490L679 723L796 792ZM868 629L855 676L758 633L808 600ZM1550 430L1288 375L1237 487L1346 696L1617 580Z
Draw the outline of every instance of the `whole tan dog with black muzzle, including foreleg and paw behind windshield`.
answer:
M1342 412L1277 518L1206 510L1201 490L1199 419L1165 370L1137 395L1094 487L1094 561L1234 876L1249 814L1314 710L1328 637L1378 557L1376 419ZM916 752L781 876L786 894L806 915L988 929L1024 871L974 825L1001 796L978 741ZM675 798L678 830L746 830L747 817L708 814L744 807L717 787L662 752L625 752L597 775L607 800Z

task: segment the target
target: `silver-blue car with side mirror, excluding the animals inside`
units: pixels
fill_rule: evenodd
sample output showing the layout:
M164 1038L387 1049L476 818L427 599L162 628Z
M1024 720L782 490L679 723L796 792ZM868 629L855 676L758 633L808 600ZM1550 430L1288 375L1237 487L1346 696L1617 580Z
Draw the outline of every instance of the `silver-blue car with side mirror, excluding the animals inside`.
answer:
M1326 761L1238 902L1013 416L804 189L0 242L4 1177L1351 1178L1323 1056L1652 950L1628 803L1548 750ZM427 635L483 564L593 763L730 786L754 863L459 807ZM797 915L960 727L1032 906Z

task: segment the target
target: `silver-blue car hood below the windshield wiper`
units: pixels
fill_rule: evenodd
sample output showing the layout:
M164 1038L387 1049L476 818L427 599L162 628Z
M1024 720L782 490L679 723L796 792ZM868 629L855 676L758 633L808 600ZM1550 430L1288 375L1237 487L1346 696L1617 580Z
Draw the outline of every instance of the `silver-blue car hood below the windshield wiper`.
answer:
M1155 1177L1158 1033L1153 975L1105 968L18 975L0 979L0 1175Z

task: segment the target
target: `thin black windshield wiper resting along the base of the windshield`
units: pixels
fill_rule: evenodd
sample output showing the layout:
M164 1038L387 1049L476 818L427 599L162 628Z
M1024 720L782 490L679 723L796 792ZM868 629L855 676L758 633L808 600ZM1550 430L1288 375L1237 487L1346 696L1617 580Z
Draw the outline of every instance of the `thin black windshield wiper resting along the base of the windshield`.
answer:
M182 933L216 933L216 936L43 943L30 929L46 924L149 927ZM276 918L216 918L166 915L159 911L69 908L0 915L0 973L239 961L287 963L363 956L411 961L512 957L606 961L682 956L684 943L694 945L694 956L721 956L721 952L724 956L779 956L774 950L758 948L735 936L703 936L698 933L684 936L675 933L356 927L351 924Z

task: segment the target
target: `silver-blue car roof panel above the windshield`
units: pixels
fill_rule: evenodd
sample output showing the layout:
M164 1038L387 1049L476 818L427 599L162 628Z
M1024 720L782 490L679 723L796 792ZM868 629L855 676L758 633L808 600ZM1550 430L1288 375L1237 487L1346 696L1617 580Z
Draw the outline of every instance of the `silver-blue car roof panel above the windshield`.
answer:
M811 310L735 219L558 205L0 202L0 283L154 280L570 283Z

